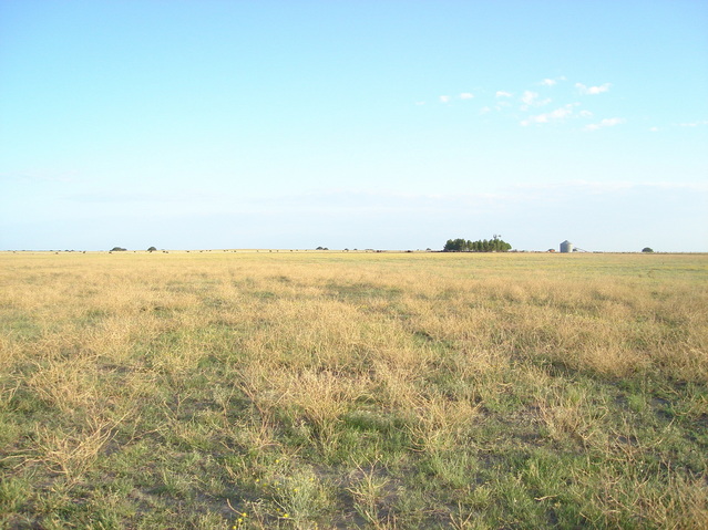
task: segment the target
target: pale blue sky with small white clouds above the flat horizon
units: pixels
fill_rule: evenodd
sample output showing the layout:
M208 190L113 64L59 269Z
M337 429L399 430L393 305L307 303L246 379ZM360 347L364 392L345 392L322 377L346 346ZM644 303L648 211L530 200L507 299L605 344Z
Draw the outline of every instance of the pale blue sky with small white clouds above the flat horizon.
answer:
M708 251L705 0L0 0L0 249Z

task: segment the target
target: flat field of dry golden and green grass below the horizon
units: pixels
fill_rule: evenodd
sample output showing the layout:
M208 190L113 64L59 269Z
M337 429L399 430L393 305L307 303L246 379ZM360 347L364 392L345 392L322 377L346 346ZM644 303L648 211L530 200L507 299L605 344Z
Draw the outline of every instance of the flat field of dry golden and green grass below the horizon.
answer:
M708 528L708 256L0 253L0 528Z

